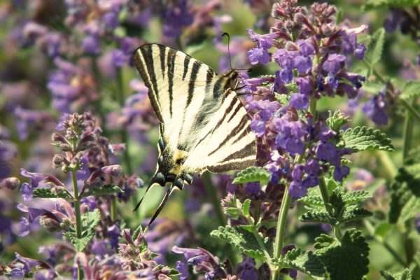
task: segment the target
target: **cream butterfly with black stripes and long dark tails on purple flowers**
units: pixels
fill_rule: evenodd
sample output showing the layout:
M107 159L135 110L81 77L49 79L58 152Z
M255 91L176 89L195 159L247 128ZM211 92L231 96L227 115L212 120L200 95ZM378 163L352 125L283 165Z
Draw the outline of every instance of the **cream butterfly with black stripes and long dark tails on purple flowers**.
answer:
M235 69L218 75L184 52L160 44L141 45L133 60L160 120L158 165L146 193L154 183L169 186L151 225L172 190L192 183L194 174L255 165L256 140L234 90L239 75Z

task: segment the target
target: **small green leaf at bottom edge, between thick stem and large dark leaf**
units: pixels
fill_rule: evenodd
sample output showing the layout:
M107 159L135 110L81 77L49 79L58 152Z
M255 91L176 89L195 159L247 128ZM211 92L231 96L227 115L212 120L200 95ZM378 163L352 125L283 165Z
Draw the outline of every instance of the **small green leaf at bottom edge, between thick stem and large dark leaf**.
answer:
M279 260L274 260L274 264L283 268L297 269L311 276L324 276L325 274L323 263L311 251L290 250Z

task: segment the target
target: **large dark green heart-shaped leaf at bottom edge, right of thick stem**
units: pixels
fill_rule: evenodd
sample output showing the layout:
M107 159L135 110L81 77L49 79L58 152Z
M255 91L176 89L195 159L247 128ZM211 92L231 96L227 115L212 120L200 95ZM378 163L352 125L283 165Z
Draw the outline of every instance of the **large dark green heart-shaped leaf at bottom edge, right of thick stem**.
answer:
M362 232L346 230L340 240L328 235L316 238L315 254L321 259L330 279L360 280L369 269L369 246Z

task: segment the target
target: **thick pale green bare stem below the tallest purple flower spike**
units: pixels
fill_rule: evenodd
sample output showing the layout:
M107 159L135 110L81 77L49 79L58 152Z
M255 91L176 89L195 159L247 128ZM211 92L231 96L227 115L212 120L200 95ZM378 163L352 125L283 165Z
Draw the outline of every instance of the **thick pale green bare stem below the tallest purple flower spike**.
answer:
M290 202L292 200L288 192L289 186L286 186L283 193L283 199L281 200L279 218L277 220L276 239L274 240L274 259L279 259L281 257L281 251L283 250L287 214L290 207ZM281 267L276 267L273 269L271 277L272 280L279 279L280 269Z

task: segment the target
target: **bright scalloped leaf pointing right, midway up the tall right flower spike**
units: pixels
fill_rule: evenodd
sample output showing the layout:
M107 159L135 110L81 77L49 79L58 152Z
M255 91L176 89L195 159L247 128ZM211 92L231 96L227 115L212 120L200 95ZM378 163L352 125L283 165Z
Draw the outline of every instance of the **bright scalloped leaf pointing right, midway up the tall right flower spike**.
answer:
M344 141L345 148L354 151L394 151L391 139L386 134L372 127L354 127L346 131L341 130L340 136Z

